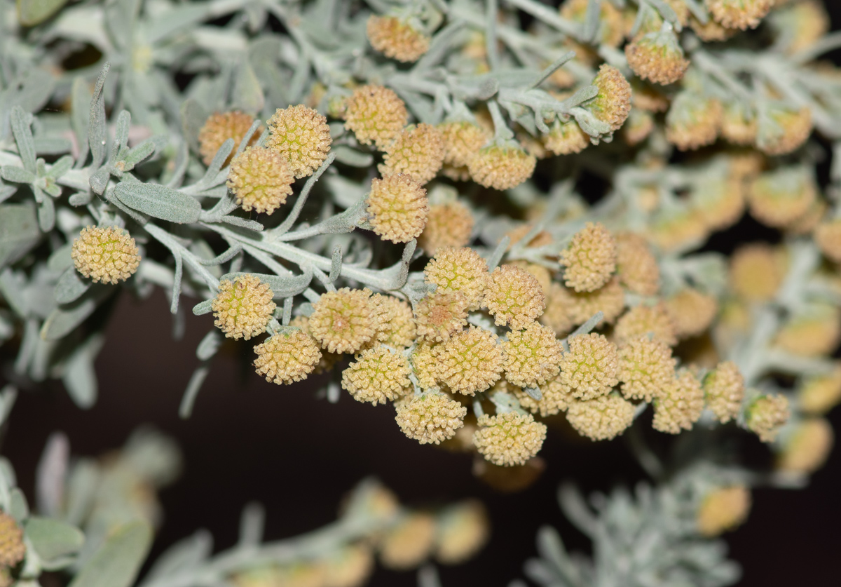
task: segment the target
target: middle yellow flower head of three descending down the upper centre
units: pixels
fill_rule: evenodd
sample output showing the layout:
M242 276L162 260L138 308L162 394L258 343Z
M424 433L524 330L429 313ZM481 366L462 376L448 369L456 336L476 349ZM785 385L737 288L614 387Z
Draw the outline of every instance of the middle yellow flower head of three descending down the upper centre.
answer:
M385 147L379 172L383 177L405 173L424 185L436 176L444 162L444 138L431 124L421 123L403 130Z

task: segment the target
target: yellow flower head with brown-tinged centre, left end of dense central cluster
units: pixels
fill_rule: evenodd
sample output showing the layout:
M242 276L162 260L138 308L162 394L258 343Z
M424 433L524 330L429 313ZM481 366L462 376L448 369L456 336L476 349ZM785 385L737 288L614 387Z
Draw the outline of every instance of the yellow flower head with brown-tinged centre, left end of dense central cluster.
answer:
M369 289L341 288L313 304L309 333L330 352L357 352L376 334L376 308Z

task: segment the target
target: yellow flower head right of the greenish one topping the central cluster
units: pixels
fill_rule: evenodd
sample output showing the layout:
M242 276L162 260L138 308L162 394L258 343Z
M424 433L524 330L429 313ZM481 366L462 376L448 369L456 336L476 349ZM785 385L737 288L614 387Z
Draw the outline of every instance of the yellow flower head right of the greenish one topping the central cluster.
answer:
M543 313L546 296L530 272L503 265L490 274L484 306L497 325L510 325L513 330L519 330Z

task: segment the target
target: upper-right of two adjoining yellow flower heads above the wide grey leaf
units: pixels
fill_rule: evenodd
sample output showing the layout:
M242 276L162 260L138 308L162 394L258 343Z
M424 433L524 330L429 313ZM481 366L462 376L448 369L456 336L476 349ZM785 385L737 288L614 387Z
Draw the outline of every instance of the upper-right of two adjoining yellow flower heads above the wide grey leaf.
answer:
M299 178L320 167L333 142L325 116L304 104L278 108L268 119L268 130L267 148L278 151Z

